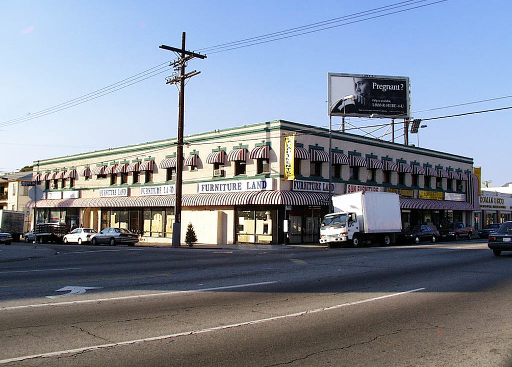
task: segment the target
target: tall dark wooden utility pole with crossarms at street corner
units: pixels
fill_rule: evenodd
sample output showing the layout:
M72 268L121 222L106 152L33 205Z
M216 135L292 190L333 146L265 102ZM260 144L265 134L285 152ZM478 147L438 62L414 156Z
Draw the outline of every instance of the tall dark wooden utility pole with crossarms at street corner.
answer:
M200 74L200 71L191 71L185 74L187 61L198 57L205 59L205 55L197 54L185 50L185 32L181 35L181 49L161 45L161 49L173 51L179 54L179 58L169 64L174 67L175 72L172 77L168 77L166 84L179 84L179 106L178 106L178 138L176 152L176 204L174 207L174 225L173 225L173 247L181 246L181 192L183 186L183 121L185 117L185 80ZM179 72L179 74L178 74Z

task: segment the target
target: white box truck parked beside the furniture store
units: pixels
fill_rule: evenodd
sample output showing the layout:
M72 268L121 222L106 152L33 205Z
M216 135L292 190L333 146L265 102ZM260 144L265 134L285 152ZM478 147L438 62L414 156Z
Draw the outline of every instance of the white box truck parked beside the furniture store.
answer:
M401 231L399 196L393 192L360 191L332 197L334 213L320 226L320 243L392 245Z

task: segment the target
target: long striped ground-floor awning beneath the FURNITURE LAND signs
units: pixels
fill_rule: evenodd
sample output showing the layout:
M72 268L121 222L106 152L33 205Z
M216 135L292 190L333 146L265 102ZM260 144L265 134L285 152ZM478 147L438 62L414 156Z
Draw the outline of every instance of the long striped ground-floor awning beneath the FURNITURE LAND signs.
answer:
M176 199L171 195L122 198L39 200L38 208L119 208L119 207L172 207ZM182 196L182 205L188 207L234 205L328 205L329 194L305 191L243 191L196 193ZM30 202L28 206L34 206Z

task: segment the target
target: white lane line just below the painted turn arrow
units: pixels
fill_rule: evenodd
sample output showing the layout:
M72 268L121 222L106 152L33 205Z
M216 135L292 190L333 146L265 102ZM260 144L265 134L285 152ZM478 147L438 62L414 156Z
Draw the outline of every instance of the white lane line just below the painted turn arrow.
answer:
M170 292L162 292L162 293L147 293L147 294L139 294L133 296L119 296L119 297L109 297L109 298L96 298L96 299L83 299L78 301L66 301L66 302L54 302L47 304L36 304L36 305L25 305L25 306L12 306L12 307L2 307L0 311L7 310L21 310L28 308L39 308L39 307L48 307L48 306L62 306L62 305L77 305L77 304L89 304L89 303L97 303L103 301L112 301L112 300L121 300L121 299L137 299L137 298L148 298L148 297L159 297L159 296L167 296L167 295L177 295L177 294L186 294L186 293L199 293L199 292L212 292L212 291L220 291L225 289L236 289L243 287L254 287L254 286L264 286L268 284L279 283L277 280L273 282L260 282L260 283L250 283L250 284L239 284L234 286L224 286L224 287L216 287L216 288L199 288L199 289L189 289L185 291L170 291Z

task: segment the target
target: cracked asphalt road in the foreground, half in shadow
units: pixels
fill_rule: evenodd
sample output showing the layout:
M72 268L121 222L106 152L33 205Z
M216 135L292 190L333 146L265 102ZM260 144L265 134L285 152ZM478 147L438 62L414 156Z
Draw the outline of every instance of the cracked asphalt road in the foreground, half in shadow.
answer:
M512 252L483 241L47 248L0 264L0 364L512 365Z

